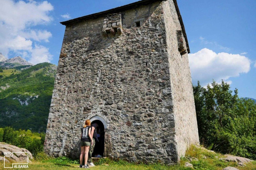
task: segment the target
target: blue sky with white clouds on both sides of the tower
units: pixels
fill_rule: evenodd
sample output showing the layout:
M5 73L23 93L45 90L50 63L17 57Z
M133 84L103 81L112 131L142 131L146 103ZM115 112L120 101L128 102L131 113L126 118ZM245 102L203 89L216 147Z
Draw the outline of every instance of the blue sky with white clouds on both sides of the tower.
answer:
M137 0L0 0L0 53L58 64L65 26L59 22ZM177 0L189 41L193 83L228 82L256 98L255 0Z

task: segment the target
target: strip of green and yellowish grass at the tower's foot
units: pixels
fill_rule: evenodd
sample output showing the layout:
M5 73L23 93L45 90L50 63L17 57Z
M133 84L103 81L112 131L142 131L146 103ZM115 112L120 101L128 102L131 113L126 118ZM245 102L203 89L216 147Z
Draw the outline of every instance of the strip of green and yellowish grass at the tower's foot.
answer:
M241 167L238 166L237 163L226 162L220 160L223 155L217 154L215 152L209 152L205 149L191 147L186 154L186 157L181 158L181 161L178 165L161 165L161 164L154 164L154 165L145 165L145 164L131 164L127 163L123 160L114 161L108 158L106 159L99 159L98 162L94 161L96 166L91 167L92 170L191 170L193 168L185 167L185 163L188 162L194 166L194 169L200 170L221 170L225 167L232 166L236 167L240 170L256 170L256 162L248 163L246 166ZM46 157L45 154L41 153L37 158L34 160L33 163L29 163L29 168L32 170L37 169L56 169L56 170L63 170L63 169L79 169L79 164L77 160L70 160L66 157L61 158L49 158ZM0 169L3 168L3 162L0 163ZM14 168L19 169L19 168ZM24 168L20 168L24 169Z

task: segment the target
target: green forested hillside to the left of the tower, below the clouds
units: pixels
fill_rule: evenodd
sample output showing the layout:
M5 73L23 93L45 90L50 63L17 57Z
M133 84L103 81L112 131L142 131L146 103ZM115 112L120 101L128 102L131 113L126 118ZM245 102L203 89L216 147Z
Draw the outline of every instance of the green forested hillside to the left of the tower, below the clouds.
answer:
M0 128L46 130L57 66L0 69Z

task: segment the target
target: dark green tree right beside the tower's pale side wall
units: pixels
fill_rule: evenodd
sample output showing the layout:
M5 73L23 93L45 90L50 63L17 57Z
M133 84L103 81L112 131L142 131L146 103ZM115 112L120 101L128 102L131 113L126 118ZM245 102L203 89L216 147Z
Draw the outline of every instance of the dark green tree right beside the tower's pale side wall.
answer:
M206 147L211 146L211 149L220 144L217 136L223 126L229 123L238 101L237 89L233 95L229 88L229 84L224 81L221 84L213 81L207 88L198 82L193 87L200 142Z

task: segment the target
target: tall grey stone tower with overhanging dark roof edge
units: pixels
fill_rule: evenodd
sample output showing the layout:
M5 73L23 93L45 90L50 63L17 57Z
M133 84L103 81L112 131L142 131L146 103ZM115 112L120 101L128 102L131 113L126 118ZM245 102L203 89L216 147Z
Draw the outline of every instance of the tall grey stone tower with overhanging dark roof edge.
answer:
M78 157L86 119L99 124L96 147L105 157L173 164L199 144L176 0L142 0L61 24L47 154Z

